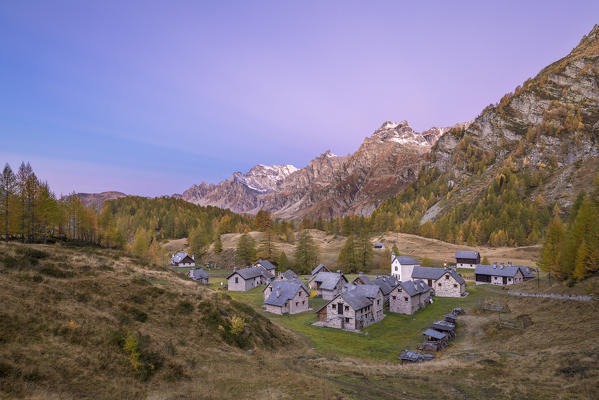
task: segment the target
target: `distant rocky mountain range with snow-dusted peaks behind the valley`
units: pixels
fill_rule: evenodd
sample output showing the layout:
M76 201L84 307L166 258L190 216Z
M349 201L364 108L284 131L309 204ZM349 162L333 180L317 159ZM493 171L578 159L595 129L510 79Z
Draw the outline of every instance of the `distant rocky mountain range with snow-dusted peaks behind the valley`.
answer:
M194 185L183 199L242 213L265 209L284 219L369 215L417 178L431 146L447 130L419 133L406 121L385 122L354 154L326 151L299 170L258 165L217 185Z

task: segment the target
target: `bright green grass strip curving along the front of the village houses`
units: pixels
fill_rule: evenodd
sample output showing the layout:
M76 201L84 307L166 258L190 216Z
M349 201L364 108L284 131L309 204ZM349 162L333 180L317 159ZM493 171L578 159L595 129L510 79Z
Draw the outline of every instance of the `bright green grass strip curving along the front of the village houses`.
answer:
M343 355L362 359L397 361L403 349L416 349L422 343L422 331L432 322L443 319L443 315L455 307L468 308L484 296L487 288L468 285L470 295L466 298L435 297L434 303L419 310L414 315L402 315L385 311L386 317L362 333L347 332L340 329L312 326L317 320L314 313L326 304L321 298L310 298L311 311L295 315L274 315L262 309L264 287L248 292L228 292L240 302L254 307L273 322L285 326L309 340L320 353L335 357ZM459 323L458 323L459 335Z

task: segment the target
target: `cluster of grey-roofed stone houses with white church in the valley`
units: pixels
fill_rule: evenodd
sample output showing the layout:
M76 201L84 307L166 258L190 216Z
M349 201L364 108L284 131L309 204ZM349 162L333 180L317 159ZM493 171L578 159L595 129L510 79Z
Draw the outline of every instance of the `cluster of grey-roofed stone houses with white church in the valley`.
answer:
M385 243L375 243L375 250ZM419 343L414 348L397 348L399 363L420 363L442 357L442 350L451 345L459 332L458 320L466 314L470 291L479 285L509 289L533 280L538 270L514 265L510 261L481 264L481 254L475 250L455 252L454 263L443 266L421 266L412 256L391 253L388 273L369 275L362 272L346 275L324 264L315 265L310 275L298 276L290 269L277 270L268 260L260 259L245 268L215 270L214 266L196 267L194 256L181 251L172 255L171 268L187 271L190 279L228 291L236 299L247 302L267 315L286 319L307 315L301 321L304 329L335 329L354 335L370 335L370 326L394 319L386 329L413 331L420 326L418 316L424 310L434 314L434 321L418 332ZM211 268L212 267L212 268ZM463 277L467 275L469 282ZM517 293L517 292L513 292ZM450 301L447 301L450 300ZM499 303L479 299L483 309L498 312ZM434 309L434 311L432 311ZM430 312L427 313L429 317ZM505 321L517 329L529 318ZM308 327L309 325L309 327ZM334 347L335 343L330 343Z

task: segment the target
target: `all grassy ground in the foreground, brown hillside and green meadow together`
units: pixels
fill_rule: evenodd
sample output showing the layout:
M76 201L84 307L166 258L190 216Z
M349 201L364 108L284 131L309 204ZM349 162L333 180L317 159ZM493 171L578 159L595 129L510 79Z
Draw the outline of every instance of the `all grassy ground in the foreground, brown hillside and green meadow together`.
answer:
M182 271L144 265L117 251L1 243L0 397L599 396L597 302L521 298L469 286L465 299L437 299L412 317L388 315L366 335L312 327L312 313L267 314L260 289L218 289L225 272L215 271L206 288ZM596 293L596 282L567 287L543 279L517 289ZM481 301L509 312L483 311ZM321 304L311 299L313 308ZM399 352L414 348L422 328L456 305L468 314L460 317L451 346L432 362L399 365ZM522 315L532 325L498 325Z

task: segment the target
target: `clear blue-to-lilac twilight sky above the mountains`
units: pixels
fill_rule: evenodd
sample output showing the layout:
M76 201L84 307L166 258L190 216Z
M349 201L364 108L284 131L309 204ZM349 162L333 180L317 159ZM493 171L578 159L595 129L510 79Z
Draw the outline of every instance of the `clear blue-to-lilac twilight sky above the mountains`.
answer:
M145 196L301 168L388 120L471 120L599 23L598 1L481 3L0 0L0 163Z

